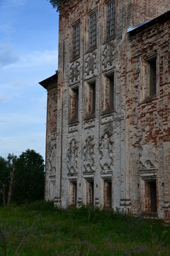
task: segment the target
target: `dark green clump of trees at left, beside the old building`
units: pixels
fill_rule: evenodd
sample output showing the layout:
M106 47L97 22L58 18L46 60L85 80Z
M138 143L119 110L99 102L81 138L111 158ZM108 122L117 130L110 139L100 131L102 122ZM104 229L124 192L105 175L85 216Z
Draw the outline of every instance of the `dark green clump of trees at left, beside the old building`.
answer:
M17 157L8 154L7 158L0 157L0 182L5 183L5 198L9 190L9 181L12 170L15 173L12 185L12 201L20 204L44 198L45 165L44 159L34 150L26 150ZM2 184L0 184L2 190ZM2 204L2 193L0 193L0 204Z

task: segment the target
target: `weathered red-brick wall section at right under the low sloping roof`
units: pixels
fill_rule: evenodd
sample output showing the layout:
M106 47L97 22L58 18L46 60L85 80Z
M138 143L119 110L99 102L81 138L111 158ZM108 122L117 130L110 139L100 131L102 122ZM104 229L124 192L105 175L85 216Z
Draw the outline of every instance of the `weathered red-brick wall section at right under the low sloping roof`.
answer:
M151 213L147 187L156 184L158 216L170 218L170 21L130 38L130 120L132 211ZM148 97L147 66L156 63L155 94ZM151 72L151 70L150 70ZM140 201L139 201L140 199Z

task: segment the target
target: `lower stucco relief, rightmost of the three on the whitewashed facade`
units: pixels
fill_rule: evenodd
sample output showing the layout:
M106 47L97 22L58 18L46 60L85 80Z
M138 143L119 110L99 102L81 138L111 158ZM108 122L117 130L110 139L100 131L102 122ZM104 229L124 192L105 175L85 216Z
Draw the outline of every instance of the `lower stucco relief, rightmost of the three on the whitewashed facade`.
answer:
M102 171L111 171L113 168L114 142L112 135L106 132L100 138L100 166Z

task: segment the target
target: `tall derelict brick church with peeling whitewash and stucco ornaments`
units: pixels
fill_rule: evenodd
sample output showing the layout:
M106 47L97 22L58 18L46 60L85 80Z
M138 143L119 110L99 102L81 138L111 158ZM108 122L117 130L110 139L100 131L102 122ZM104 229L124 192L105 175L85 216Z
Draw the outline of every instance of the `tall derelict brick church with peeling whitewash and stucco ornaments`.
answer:
M170 1L66 0L45 199L170 221Z

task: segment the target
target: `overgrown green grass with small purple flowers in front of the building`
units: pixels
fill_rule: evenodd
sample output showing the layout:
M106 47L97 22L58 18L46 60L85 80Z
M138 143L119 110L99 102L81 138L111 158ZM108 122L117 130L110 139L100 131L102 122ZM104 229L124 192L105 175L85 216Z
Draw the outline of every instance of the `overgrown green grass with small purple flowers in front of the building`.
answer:
M0 230L5 256L170 255L170 227L160 221L84 205L68 211L42 201L1 207Z

